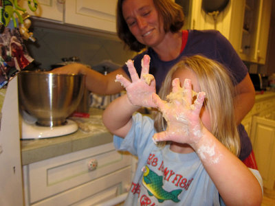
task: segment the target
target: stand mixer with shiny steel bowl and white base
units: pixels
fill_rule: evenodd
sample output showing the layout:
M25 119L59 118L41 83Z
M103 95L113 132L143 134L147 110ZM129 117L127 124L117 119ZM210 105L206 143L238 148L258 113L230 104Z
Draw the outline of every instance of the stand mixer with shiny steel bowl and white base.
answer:
M76 110L84 89L81 74L19 72L21 139L58 137L78 130L76 122L66 118Z

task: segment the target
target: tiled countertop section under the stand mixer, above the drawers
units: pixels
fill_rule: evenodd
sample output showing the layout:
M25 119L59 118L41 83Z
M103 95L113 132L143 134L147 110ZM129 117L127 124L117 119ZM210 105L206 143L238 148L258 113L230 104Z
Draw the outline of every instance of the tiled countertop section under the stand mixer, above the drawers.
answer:
M113 141L113 136L102 124L102 110L90 108L89 113L89 118L82 118L85 119L85 122L91 122L92 129L89 132L84 132L78 128L75 133L61 137L22 139L22 165L28 165Z

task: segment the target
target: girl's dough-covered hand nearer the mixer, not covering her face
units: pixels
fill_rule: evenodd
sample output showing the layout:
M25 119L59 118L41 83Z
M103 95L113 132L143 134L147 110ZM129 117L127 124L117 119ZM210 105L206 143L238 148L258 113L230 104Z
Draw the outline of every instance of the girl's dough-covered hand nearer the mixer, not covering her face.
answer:
M152 100L152 94L155 93L155 78L149 74L150 57L144 55L142 59L142 72L139 76L133 65L132 60L127 61L127 67L132 82L122 75L116 76L116 81L120 82L126 89L127 96L131 104L135 106L155 107Z

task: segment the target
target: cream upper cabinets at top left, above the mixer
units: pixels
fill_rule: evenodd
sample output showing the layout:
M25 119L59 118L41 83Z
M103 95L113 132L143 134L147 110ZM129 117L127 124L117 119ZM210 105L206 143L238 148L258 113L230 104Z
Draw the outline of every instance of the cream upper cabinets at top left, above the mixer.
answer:
M28 8L27 2L21 0L19 5ZM68 25L115 33L116 3L114 0L39 0L38 10L28 12Z

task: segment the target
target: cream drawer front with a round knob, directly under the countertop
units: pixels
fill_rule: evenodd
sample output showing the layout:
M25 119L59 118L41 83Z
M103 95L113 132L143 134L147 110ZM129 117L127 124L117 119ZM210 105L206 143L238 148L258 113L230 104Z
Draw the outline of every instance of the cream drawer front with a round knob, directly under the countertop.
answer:
M96 160L96 170L88 163ZM27 166L30 203L100 178L131 165L131 156L117 152L113 143L72 152Z

